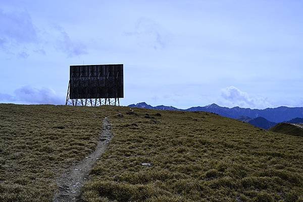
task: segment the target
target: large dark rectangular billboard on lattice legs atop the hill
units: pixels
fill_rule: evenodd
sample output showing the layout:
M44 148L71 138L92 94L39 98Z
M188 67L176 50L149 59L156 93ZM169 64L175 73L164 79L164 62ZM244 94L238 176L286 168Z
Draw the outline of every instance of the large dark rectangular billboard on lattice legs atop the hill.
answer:
M123 97L123 64L70 65L65 105L120 106Z

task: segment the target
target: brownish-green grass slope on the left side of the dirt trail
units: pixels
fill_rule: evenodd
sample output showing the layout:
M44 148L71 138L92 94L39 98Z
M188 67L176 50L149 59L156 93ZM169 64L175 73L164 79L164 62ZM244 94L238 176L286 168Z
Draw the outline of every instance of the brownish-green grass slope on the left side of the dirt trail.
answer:
M0 201L52 201L55 178L94 150L107 112L0 104Z

